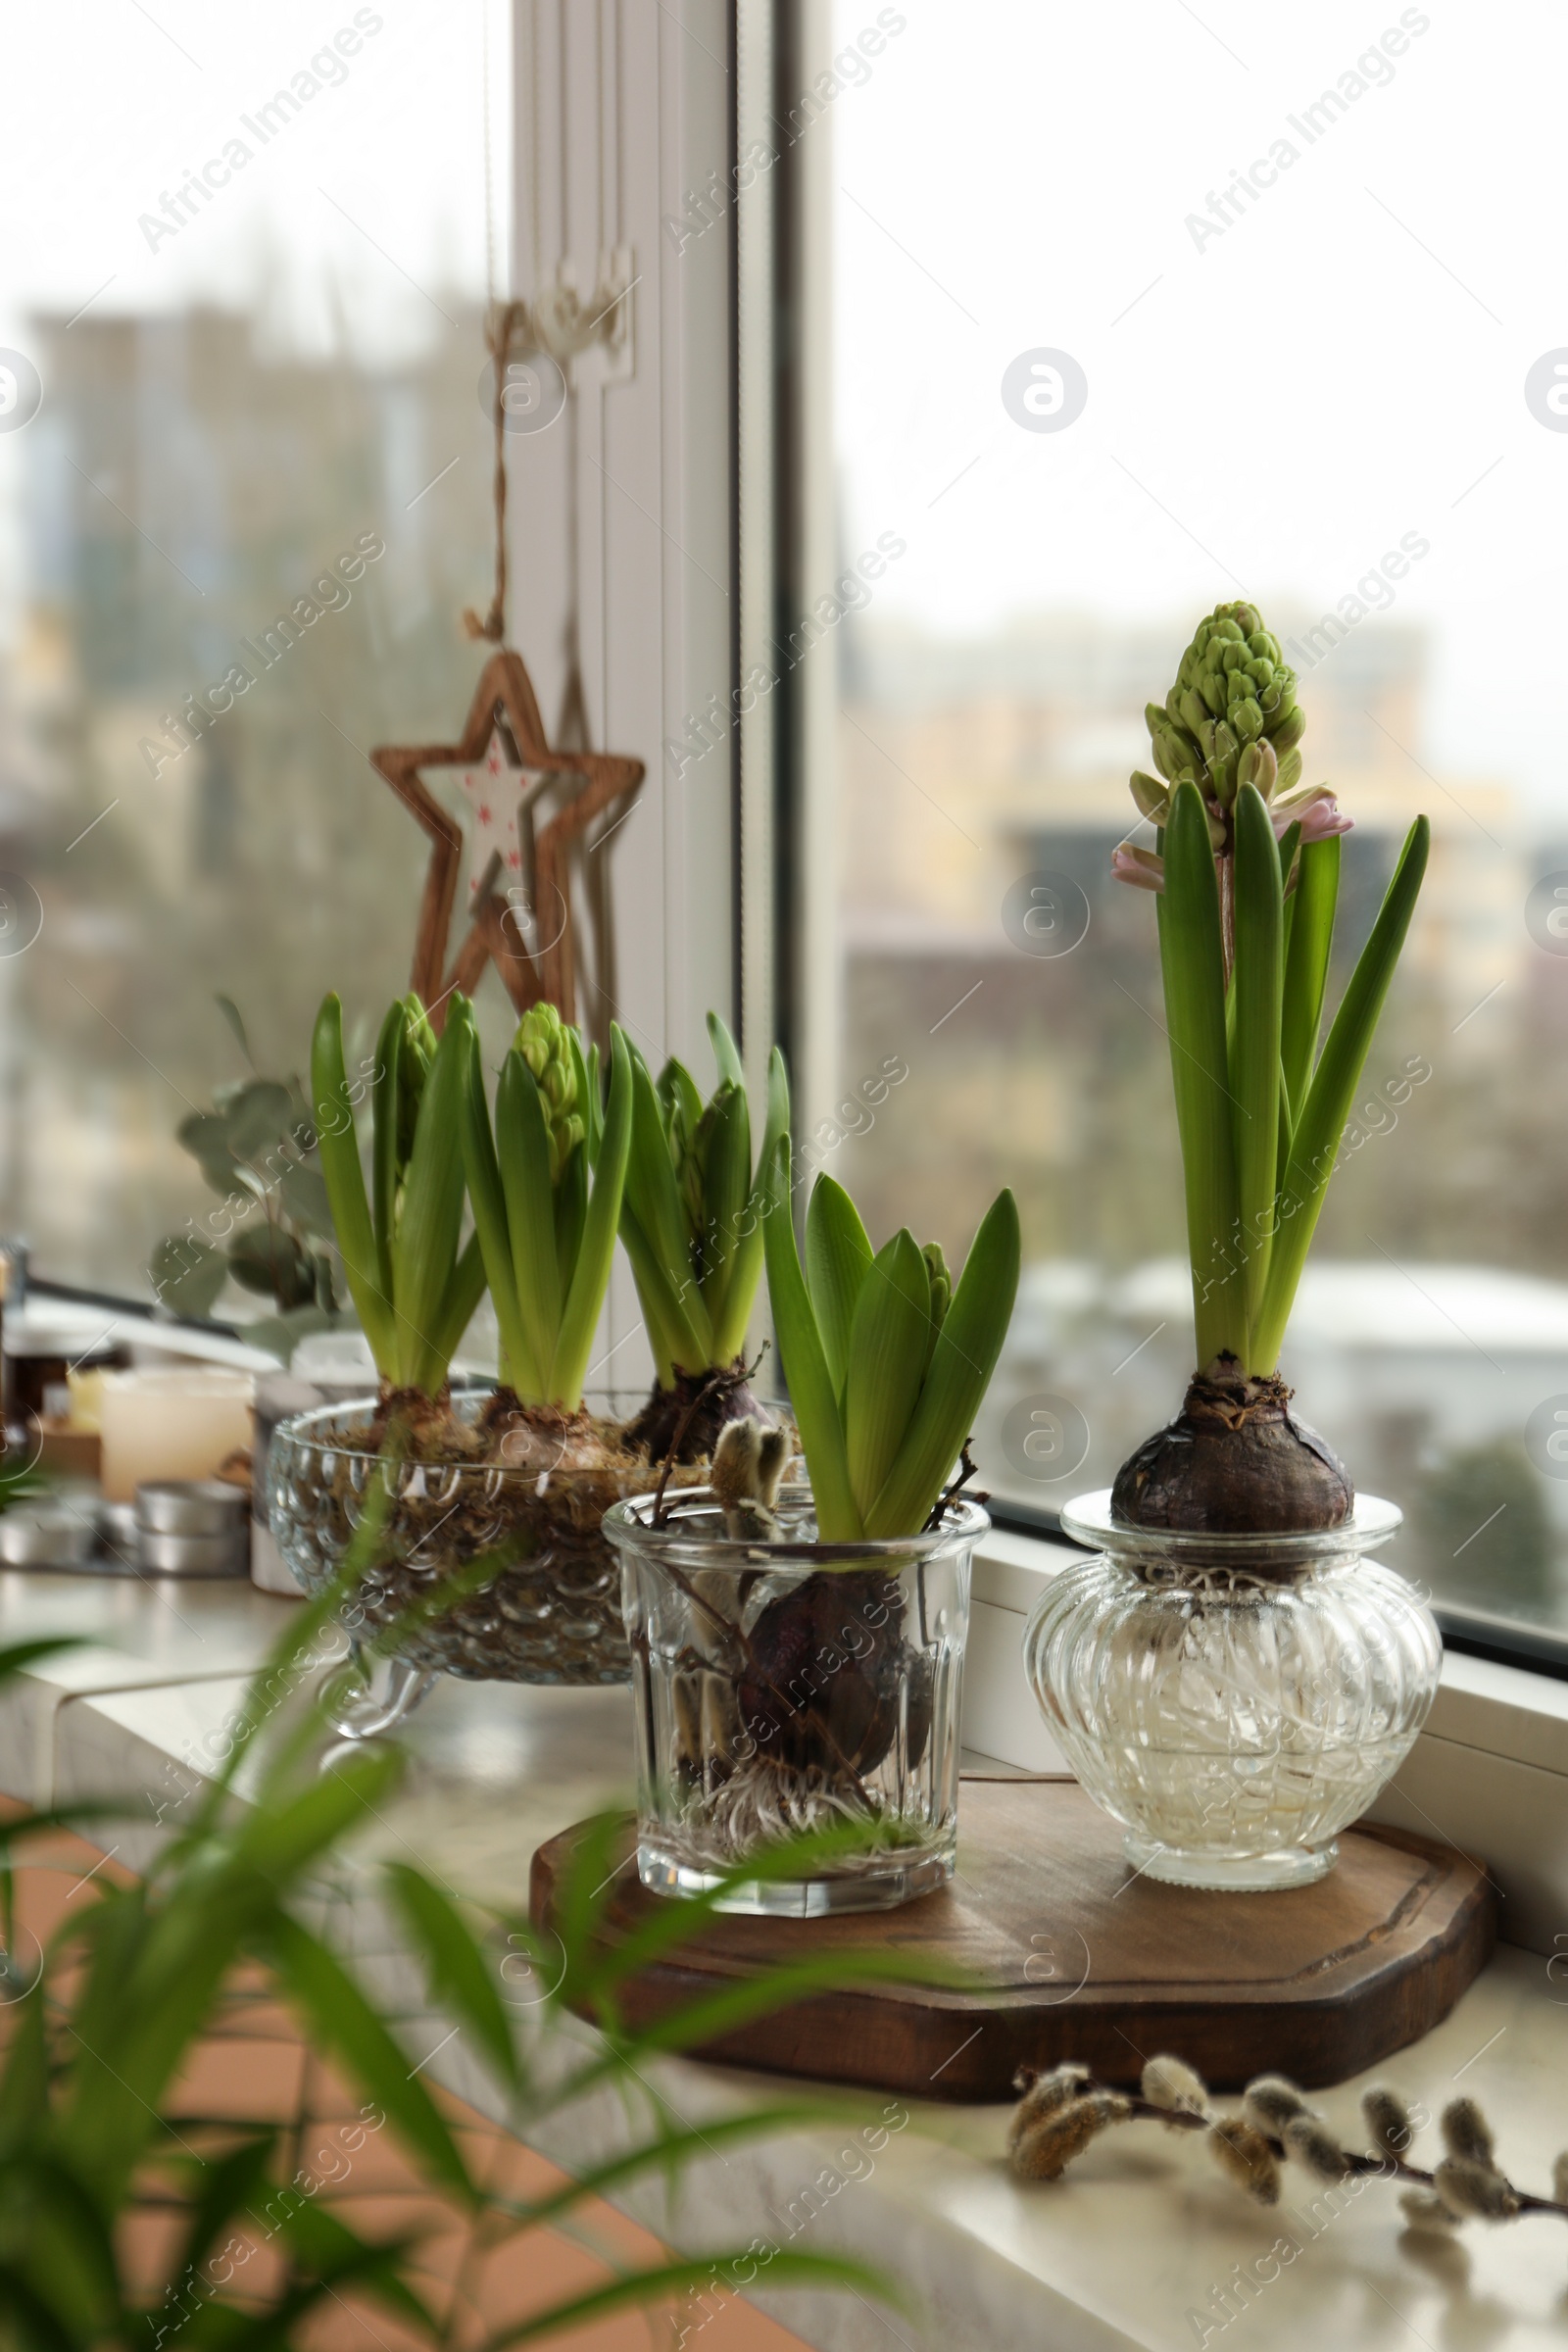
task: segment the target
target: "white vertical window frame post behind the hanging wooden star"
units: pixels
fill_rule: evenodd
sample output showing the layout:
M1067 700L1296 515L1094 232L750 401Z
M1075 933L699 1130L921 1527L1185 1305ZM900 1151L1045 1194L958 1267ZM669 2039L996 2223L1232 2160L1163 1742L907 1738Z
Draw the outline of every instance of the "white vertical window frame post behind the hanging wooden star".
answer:
M630 259L630 348L574 362L576 397L508 442L510 633L545 727L574 609L590 743L646 781L611 847L614 1011L658 1068L705 1068L705 1014L738 1014L736 743L682 762L733 680L733 223L682 240L689 191L729 172L726 0L512 0L512 292L585 294ZM632 1277L616 1263L616 1385L646 1385Z

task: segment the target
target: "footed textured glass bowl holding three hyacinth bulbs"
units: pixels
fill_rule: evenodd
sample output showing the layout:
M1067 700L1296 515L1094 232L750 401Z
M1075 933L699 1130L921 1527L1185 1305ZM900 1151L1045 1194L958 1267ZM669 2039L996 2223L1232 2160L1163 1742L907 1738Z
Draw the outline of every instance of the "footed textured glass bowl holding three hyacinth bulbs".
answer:
M454 1392L456 1421L484 1411L491 1385ZM277 1550L306 1592L341 1571L367 1498L390 1491L374 1562L346 1602L343 1630L360 1693L331 1708L346 1738L371 1738L411 1712L437 1675L463 1682L616 1684L630 1679L621 1569L602 1536L614 1501L646 1486L646 1461L545 1468L536 1461L397 1461L367 1442L374 1397L280 1421L268 1446L268 1512ZM696 1472L677 1472L691 1477ZM482 1590L397 1639L386 1691L371 1691L367 1651L442 1578L480 1552L524 1550Z

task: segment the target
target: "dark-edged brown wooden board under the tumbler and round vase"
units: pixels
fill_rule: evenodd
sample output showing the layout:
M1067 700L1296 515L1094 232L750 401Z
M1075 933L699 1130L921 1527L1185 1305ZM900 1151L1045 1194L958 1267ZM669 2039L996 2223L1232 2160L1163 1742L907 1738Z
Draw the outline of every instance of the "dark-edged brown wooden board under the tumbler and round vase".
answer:
M576 1830L534 1856L550 1926ZM604 1912L614 1940L663 1898L635 1875L632 1823ZM910 2098L1013 2096L1020 2065L1065 2058L1133 2084L1175 2051L1218 2091L1279 2070L1342 2082L1448 2016L1497 1933L1481 1863L1361 1825L1314 1886L1206 1893L1133 1877L1121 1832L1074 1780L964 1780L959 1877L893 1912L715 1917L625 1987L646 2023L755 1969L877 1943L950 1964L961 1992L846 1985L759 2018L701 2056Z

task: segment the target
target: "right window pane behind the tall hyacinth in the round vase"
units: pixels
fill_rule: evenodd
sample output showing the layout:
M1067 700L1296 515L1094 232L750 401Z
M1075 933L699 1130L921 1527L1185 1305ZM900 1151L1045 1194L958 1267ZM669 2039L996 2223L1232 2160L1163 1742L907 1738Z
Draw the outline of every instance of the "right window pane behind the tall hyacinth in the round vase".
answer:
M1011 1508L1107 1484L1190 1371L1154 908L1107 866L1194 621L1248 595L1286 640L1345 946L1432 816L1284 1369L1439 1602L1561 1628L1563 26L1512 42L1476 111L1479 14L839 0L839 569L792 595L842 612L830 1167L950 1254L1016 1185Z

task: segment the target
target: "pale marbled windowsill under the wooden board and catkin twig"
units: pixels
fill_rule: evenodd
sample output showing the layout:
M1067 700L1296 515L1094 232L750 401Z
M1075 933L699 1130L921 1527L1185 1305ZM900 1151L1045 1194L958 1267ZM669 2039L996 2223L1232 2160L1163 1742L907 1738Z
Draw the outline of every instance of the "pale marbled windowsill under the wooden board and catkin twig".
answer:
M978 1618L1006 1637L1013 1658L1041 1573L1039 1559L1020 1557L1011 1538L987 1543ZM165 1595L143 1585L21 1571L2 1585L7 1639L54 1623L96 1635L103 1646L40 1661L5 1693L0 1788L56 1804L113 1788L132 1818L106 1835L122 1842L122 1860L143 1867L169 1835L169 1813L179 1820L202 1759L226 1755L244 1672L277 1637L289 1604L242 1585L183 1588L176 1616ZM1467 1682L1458 1705L1474 1712L1483 1703L1469 1682L1476 1661L1460 1663ZM1023 1689L1023 1675L1016 1679ZM421 2056L428 2074L498 2122L501 2103L465 2058L465 2037L451 2037L447 2020L428 2013L421 1973L390 1950L374 1886L378 1856L414 1858L463 1896L512 1910L534 1844L621 1802L628 1740L625 1691L444 1682L400 1733L407 1780L388 1799L378 1837L343 1860L346 1900L331 1907L331 1933L360 1966L381 1971L381 1990L404 2011L407 2046L430 2053ZM1474 1778L1479 1752L1455 1752ZM1507 1769L1549 1778L1535 1766ZM1556 2084L1568 2063L1568 2018L1559 2011L1561 1985L1540 1959L1497 1952L1453 2013L1380 2072L1434 2114L1455 2082L1474 2091L1497 2126L1502 2159L1537 2187L1561 2145ZM588 2027L569 2025L564 2034L576 2039ZM778 2096L776 2082L689 2060L658 2060L649 2082L696 2129ZM1354 2079L1321 2096L1340 2131L1356 2129L1359 2091ZM670 2201L658 2180L630 2185L616 2201L686 2246L745 2246L757 2237L856 2256L900 2279L910 2307L889 2317L853 2296L771 2296L759 2281L757 2300L823 2352L872 2352L893 2338L912 2352L1034 2352L1041 2343L1060 2352L1168 2352L1175 2343L1213 2343L1220 2321L1206 2314L1215 2288L1234 2279L1237 2265L1251 2270L1267 2258L1281 2232L1298 2251L1284 2267L1265 2263L1272 2284L1248 2343L1255 2336L1279 2352L1319 2352L1328 2343L1392 2352L1396 2343L1448 2340L1467 2312L1481 2310L1490 2352L1530 2352L1561 2326L1561 2230L1549 2220L1507 2232L1474 2227L1462 2251L1448 2249L1462 2272L1439 2272L1401 2234L1385 2185L1363 2197L1326 2194L1293 2171L1281 2206L1265 2213L1220 2180L1201 2150L1143 2129L1110 2136L1053 2187L1027 2185L1006 2171L1006 2107L893 2103L893 2129L875 2164L853 2152L858 2133L823 2124L715 2154ZM585 2171L625 2145L623 2129L609 2103L548 2124L538 2145ZM1425 2133L1427 2159L1432 2140Z

